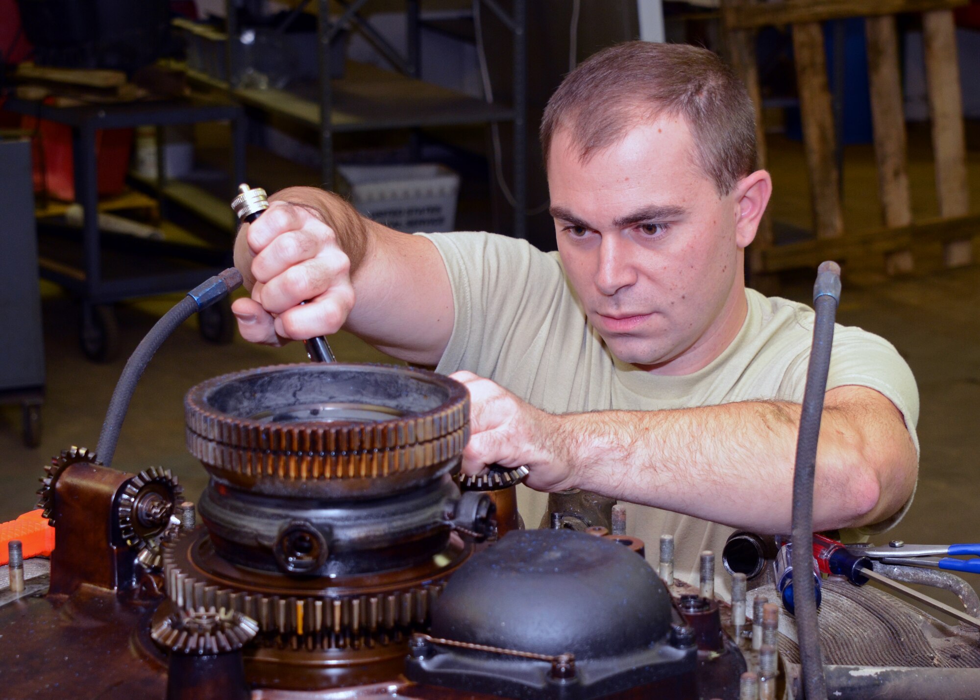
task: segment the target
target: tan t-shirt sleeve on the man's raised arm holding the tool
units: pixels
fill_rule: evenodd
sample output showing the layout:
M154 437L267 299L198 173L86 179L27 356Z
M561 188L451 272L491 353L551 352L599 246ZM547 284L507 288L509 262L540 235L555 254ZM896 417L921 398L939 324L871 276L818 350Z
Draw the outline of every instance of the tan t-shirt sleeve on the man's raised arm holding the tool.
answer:
M547 332L549 315L566 294L558 260L494 233L416 235L435 244L453 289L453 332L436 372L496 378L505 355L521 357Z

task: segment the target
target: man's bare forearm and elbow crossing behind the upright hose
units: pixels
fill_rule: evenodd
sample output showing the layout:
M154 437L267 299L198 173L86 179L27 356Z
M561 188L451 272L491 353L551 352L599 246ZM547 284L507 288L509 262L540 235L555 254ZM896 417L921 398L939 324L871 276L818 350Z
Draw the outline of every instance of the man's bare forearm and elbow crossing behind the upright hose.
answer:
M886 399L887 401L887 399ZM893 407L894 410L894 407ZM801 407L744 402L656 412L604 411L558 419L555 449L574 484L760 532L788 532ZM907 430L858 407L830 406L820 430L814 526L882 520L911 492L915 453Z

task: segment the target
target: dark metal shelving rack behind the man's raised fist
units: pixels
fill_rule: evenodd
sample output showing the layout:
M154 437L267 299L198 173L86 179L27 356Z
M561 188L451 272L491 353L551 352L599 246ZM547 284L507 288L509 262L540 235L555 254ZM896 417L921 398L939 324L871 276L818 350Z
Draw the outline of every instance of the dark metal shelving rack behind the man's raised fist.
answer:
M227 12L226 58L229 82L189 72L190 77L211 87L226 89L243 105L313 126L319 133L321 181L334 186L334 134L436 125L512 123L514 125L513 235L525 235L526 209L526 0L513 0L506 12L497 0L482 3L512 34L513 104L490 104L469 95L418 79L419 0L406 0L408 51L402 55L371 24L362 10L369 0L335 0L344 9L330 22L330 0L318 3L319 99L307 99L289 90L259 89L234 84L238 66L239 27L233 0L225 0ZM347 74L330 79L333 58L330 46L343 27L360 30L395 71L348 62ZM321 119L321 115L329 115Z

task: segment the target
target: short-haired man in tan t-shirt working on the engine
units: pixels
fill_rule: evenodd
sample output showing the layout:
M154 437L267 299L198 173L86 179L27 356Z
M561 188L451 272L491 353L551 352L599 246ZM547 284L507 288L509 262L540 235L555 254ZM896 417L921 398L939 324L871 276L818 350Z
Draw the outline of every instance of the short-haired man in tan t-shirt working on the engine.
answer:
M527 465L520 510L577 487L677 541L677 575L732 528L790 529L813 315L746 290L769 199L744 87L710 52L632 42L583 63L541 126L558 254L487 233L398 233L290 188L243 226L235 302L256 342L340 327L456 372L472 397L464 469ZM290 204L291 203L291 204ZM311 300L305 306L298 306ZM487 378L481 378L487 377ZM886 341L838 327L814 526L881 531L915 485L918 396Z

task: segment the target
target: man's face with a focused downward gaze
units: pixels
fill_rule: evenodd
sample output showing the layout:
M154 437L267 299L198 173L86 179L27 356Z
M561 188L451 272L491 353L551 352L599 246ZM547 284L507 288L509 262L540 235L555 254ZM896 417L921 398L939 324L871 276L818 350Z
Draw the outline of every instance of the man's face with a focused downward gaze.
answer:
M738 203L698 167L680 118L637 125L584 164L580 152L555 134L548 184L565 272L613 355L655 369L707 342L741 292Z

